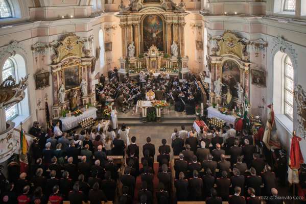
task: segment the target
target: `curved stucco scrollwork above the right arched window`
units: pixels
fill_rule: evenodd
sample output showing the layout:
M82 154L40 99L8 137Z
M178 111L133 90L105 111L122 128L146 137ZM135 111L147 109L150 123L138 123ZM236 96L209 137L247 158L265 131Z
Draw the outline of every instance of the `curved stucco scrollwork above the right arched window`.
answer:
M277 36L277 37L273 38L272 51L274 51L275 49L279 49L280 52L282 52L282 53L290 54L290 57L291 57L290 59L291 59L293 65L294 65L294 67L296 67L296 65L297 65L297 53L295 52L295 48L292 46L292 44L287 42L283 37Z

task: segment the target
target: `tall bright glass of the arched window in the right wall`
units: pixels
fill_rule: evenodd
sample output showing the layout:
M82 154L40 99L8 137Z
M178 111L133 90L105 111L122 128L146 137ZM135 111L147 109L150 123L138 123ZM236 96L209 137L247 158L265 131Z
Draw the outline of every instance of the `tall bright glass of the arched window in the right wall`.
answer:
M284 113L293 120L294 69L288 56L286 56L284 63Z

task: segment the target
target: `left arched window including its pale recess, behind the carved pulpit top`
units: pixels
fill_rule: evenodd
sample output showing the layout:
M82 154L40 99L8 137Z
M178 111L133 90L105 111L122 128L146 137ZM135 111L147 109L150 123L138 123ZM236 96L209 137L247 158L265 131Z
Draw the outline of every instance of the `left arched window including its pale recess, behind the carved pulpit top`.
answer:
M26 62L23 57L18 54L8 58L2 68L3 81L12 75L16 83L18 83L21 77L25 77L26 74ZM6 119L13 120L16 125L19 124L20 121L24 121L30 115L28 88L25 90L25 93L26 95L23 100L5 110Z

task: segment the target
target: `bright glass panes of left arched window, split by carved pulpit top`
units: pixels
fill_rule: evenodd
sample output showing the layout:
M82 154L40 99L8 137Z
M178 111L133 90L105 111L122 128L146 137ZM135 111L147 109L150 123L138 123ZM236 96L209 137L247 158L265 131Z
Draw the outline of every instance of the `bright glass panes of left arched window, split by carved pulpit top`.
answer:
M2 70L2 80L7 79L10 75L14 79L16 79L16 69L13 61L11 59L7 59L4 63L3 70ZM7 120L12 120L16 116L18 116L18 105L15 104L14 106L8 108L5 111L5 116Z

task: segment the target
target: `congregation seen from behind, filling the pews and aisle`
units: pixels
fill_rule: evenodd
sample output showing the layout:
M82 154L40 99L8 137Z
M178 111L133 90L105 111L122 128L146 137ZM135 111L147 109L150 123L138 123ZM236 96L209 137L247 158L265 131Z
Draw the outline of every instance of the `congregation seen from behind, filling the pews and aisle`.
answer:
M228 130L210 127L204 131L201 126L199 132L181 126L169 136L171 144L165 138L153 144L150 136L146 144L137 144L125 129L123 124L119 131L110 126L104 132L98 126L77 134L61 132L58 123L53 132L44 133L35 122L29 131L35 136L29 170L19 174L18 163L9 164L9 177L1 180L1 200L253 204L261 203L258 196L265 195L270 196L265 200L268 203L283 202L277 197L277 187L286 177L286 152L280 151L277 168L267 164L246 130L236 131L232 124ZM122 156L125 162L118 164L107 156Z

